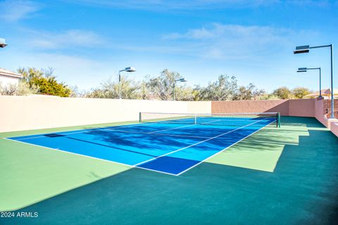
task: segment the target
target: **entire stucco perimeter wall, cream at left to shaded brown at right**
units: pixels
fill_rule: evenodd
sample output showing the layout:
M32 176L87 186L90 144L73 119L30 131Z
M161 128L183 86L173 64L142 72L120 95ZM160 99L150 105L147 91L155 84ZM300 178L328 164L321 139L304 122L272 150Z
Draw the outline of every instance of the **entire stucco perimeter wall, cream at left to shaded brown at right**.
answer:
M149 113L260 113L316 117L337 135L337 120L325 117L325 101L149 101L54 96L0 96L0 132L138 120ZM337 106L338 108L338 106ZM332 124L332 126L330 126Z

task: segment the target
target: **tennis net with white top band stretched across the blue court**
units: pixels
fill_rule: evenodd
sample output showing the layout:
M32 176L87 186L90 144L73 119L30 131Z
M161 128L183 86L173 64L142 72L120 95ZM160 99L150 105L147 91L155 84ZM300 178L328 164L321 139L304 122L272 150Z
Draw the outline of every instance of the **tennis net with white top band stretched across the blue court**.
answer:
M275 124L276 127L280 127L280 113L139 113L139 122L237 127Z

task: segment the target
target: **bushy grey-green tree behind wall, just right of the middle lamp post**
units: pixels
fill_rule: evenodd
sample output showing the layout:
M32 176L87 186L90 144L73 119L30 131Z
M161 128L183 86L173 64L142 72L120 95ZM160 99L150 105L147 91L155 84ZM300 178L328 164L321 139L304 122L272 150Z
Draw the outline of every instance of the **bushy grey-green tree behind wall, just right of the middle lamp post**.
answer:
M225 101L232 100L237 90L237 79L232 76L220 75L215 82L209 82L208 86L196 86L201 101Z

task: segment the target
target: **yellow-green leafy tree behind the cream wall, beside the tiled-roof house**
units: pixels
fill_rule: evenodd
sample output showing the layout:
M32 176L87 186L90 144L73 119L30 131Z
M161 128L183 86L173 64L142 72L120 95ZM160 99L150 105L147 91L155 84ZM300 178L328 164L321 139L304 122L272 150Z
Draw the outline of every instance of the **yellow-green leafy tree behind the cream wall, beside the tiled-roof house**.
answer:
M18 72L23 75L25 82L31 90L37 94L69 97L71 94L67 85L58 82L53 75L53 69L37 70L35 68L19 68Z

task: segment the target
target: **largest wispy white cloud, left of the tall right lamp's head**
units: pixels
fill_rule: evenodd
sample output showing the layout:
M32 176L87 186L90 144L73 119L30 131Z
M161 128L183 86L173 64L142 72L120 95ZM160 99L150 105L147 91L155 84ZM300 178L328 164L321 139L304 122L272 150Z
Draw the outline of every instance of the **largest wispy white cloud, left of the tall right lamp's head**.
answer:
M295 32L280 27L213 23L184 33L164 34L163 42L173 49L181 49L182 53L201 58L238 59L266 56L284 49L299 37L315 35L308 30Z

